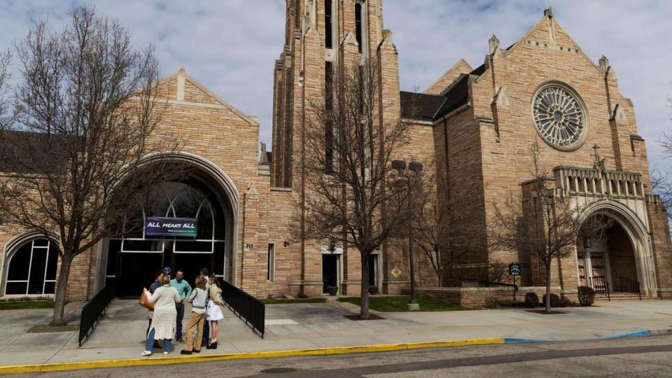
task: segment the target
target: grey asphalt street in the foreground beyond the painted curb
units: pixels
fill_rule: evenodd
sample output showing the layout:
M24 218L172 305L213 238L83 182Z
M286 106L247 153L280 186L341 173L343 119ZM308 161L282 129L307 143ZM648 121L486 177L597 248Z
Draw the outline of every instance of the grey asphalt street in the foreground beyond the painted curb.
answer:
M78 370L45 377L672 377L672 336ZM27 374L25 376L28 376ZM32 374L34 376L34 374Z

